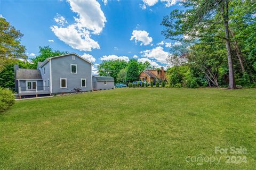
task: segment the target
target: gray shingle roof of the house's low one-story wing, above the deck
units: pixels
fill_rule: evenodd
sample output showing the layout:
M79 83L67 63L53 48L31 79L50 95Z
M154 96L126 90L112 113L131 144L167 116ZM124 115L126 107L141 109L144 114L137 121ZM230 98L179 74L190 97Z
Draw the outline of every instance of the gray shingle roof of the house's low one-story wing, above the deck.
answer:
M34 69L18 69L16 72L17 79L22 80L39 80L42 79L41 72Z

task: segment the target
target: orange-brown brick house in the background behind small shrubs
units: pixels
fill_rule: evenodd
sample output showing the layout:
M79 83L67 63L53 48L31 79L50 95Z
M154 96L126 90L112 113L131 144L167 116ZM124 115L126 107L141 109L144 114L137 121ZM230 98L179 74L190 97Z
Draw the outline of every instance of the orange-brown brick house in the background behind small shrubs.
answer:
M164 67L161 67L161 70L145 70L139 74L140 81L163 81L166 80L166 71L164 71Z

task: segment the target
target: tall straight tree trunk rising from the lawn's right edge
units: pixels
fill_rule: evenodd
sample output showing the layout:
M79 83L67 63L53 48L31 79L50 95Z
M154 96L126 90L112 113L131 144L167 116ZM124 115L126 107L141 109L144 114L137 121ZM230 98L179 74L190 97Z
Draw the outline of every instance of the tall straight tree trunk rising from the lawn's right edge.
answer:
M233 71L233 63L231 57L231 47L229 39L229 30L228 30L228 0L222 0L222 16L223 24L225 27L225 37L226 37L226 48L227 48L227 57L228 57L228 71L229 71L229 86L228 89L236 89L235 77Z

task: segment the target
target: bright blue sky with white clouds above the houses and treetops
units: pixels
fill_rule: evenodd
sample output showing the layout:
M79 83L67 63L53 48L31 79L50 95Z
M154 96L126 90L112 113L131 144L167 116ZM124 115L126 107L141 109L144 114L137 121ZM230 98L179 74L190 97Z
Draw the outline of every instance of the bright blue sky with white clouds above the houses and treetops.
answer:
M161 35L163 16L178 0L0 1L0 14L23 33L29 57L39 46L75 52L97 65L137 58L166 66L175 42ZM177 42L176 42L177 43Z

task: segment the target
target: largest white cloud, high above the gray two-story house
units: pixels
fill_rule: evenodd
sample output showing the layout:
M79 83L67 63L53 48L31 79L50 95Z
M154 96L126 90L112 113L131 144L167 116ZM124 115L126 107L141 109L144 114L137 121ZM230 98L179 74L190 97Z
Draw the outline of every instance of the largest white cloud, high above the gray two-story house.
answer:
M100 49L98 42L91 38L91 34L98 35L102 31L107 21L100 4L95 0L68 0L67 2L69 2L71 10L77 13L77 16L74 17L75 23L64 27L65 18L61 19L64 22L60 22L60 17L57 18L59 19L57 21L54 18L58 24L63 23L60 24L60 27L51 26L55 36L74 49L81 51Z

